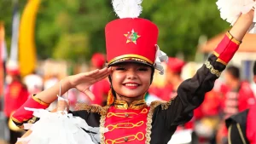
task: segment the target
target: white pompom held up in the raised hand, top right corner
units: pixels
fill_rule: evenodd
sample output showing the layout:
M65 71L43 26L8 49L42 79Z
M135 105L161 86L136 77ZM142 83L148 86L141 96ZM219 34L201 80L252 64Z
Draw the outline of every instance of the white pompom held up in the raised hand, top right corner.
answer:
M256 2L253 0L218 0L216 4L220 11L220 17L228 21L231 26L236 23L240 14L246 14L256 6ZM253 22L256 22L256 11L254 13ZM254 29L254 25L251 26L251 29ZM251 29L249 32L252 32Z

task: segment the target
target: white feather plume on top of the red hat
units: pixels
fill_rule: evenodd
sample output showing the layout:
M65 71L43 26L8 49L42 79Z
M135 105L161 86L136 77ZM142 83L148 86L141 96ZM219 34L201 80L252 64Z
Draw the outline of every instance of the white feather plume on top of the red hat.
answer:
M122 18L137 18L143 11L143 0L112 0L113 10Z

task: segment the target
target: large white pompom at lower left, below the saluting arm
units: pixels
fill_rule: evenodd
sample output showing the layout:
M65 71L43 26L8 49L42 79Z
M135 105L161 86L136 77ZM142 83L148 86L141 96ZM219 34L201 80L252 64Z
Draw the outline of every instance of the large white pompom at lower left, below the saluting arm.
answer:
M29 125L32 133L18 141L26 144L95 144L100 142L99 128L90 127L82 118L67 112L48 112L44 109L26 108L33 111L38 122ZM84 130L91 133L86 133ZM105 130L104 132L107 132Z

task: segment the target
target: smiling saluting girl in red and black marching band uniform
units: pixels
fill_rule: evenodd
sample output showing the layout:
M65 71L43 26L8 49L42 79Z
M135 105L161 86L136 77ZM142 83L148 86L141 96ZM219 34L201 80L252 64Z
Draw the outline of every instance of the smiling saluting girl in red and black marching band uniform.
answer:
M79 104L77 111L71 113L92 127L108 128L108 132L101 133L100 143L165 144L178 125L193 117L193 110L201 105L204 95L235 55L253 23L253 13L251 10L241 14L195 76L180 84L175 99L154 101L150 106L144 95L153 81L154 69L163 72L160 61L166 59L157 45L158 27L149 20L137 18L138 15L119 14L120 19L109 22L105 28L108 67L63 78L61 95L72 88L91 95L90 85L109 77L111 90L107 106ZM23 124L35 123L38 118L24 107L47 108L57 99L59 85L32 95L13 115L15 124L22 128Z

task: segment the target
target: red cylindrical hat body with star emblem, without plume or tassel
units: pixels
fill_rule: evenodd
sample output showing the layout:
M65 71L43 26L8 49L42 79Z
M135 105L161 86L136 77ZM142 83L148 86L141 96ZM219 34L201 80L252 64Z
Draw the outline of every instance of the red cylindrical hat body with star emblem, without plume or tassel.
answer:
M124 18L105 27L108 65L135 60L154 65L158 28L149 20Z

